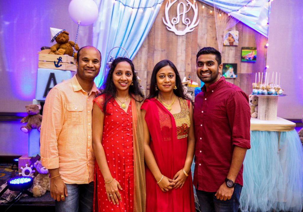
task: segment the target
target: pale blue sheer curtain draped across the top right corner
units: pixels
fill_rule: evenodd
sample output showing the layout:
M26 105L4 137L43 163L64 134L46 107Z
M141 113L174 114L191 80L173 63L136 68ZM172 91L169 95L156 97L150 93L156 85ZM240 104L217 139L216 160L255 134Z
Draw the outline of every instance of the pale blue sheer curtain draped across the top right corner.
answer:
M268 0L199 0L210 6L216 5L217 8L224 12L230 13L231 16L240 20L244 24L258 31L265 37L268 37L268 18L270 3ZM249 2L249 3L248 3ZM246 4L247 8L241 8ZM241 8L241 9L240 9ZM237 10L240 9L238 12ZM234 11L235 10L235 11ZM231 12L233 11L233 12Z

